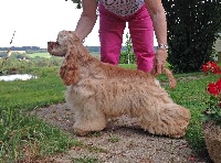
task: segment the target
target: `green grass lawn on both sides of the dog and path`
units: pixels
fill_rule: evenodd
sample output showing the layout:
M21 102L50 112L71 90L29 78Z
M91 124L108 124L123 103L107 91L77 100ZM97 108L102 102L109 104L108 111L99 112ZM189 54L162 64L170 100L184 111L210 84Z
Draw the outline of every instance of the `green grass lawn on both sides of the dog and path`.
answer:
M136 68L136 65L120 66ZM63 152L80 144L67 133L29 115L33 109L64 101L65 86L57 76L57 70L59 67L31 68L30 73L36 75L38 79L0 82L0 162L18 160L21 149L27 144L38 145L38 155ZM206 86L219 76L203 76L202 73L175 76L178 79L177 88L170 89L167 85L164 87L177 104L190 109L191 122L185 139L196 152L202 153L206 146L199 116L209 97ZM179 80L180 77L189 76L199 76L199 79ZM165 82L167 77L160 75L158 79Z

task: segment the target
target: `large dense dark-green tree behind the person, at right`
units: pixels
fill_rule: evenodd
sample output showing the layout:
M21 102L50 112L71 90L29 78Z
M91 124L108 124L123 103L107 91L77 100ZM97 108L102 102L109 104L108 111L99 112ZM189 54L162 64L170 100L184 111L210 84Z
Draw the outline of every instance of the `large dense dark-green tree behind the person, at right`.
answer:
M162 0L168 24L168 62L176 73L198 72L213 61L221 28L221 0Z

